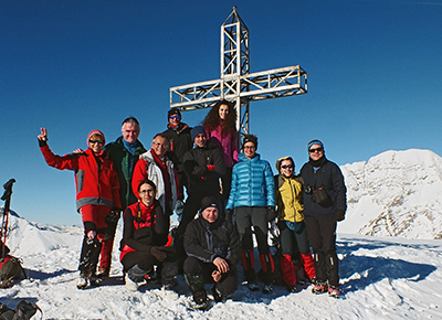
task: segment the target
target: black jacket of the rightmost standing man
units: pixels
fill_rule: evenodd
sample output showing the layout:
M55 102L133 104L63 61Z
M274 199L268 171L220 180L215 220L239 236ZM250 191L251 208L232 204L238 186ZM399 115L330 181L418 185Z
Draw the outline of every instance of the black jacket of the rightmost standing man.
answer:
M325 157L314 173L311 162L301 169L304 179L304 215L335 215L338 209L347 210L347 189L339 167ZM320 206L314 201L314 189L323 186L332 199L332 205ZM309 190L312 189L312 190Z

